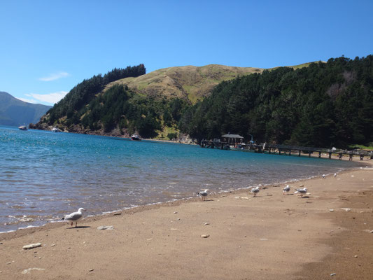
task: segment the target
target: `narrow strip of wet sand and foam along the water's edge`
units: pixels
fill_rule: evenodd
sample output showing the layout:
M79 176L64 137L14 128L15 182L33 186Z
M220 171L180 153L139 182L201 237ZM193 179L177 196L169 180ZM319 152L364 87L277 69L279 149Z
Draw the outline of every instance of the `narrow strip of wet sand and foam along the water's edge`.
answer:
M373 167L373 163L367 162L367 166ZM337 174L343 174L344 172L349 172L349 171L353 171L353 170L360 170L360 169L364 169L364 168L366 168L366 167L355 167L355 168L342 169L340 172L337 172ZM325 176L332 176L332 174L331 173L330 174L325 174ZM265 188L273 188L273 187L280 186L280 185L311 181L311 180L314 180L314 179L318 179L319 177L320 176L311 176L311 177L308 177L308 178L290 179L288 181L281 181L281 182L276 182L276 183L256 184L256 185L253 185L253 186L248 186L246 188L220 190L217 193L210 193L209 197L218 197L219 195L227 194L227 193L235 194L235 193L242 193L242 192L245 192L245 191L247 192L251 188L254 188L254 187L257 187L257 186L265 187ZM113 210L113 211L105 211L105 212L102 212L101 214L89 215L89 216L86 216L84 218L84 220L85 221L90 221L90 219L93 219L93 221L97 221L99 219L106 218L107 216L111 216L115 213L117 213L117 214L118 213L120 213L120 214L127 214L127 213L133 214L133 213L136 213L138 211L148 211L148 210L151 210L151 209L157 208L157 207L174 206L174 205L178 205L178 204L184 203L184 202L195 202L197 200L199 200L199 197L184 197L184 198L181 198L181 199L169 200L169 201L164 201L164 202L153 202L153 203L150 203L150 204L136 205L134 207L126 207L124 209L118 209L118 210ZM19 236L27 235L28 232L30 230L33 231L33 229L39 229L40 228L41 230L43 230L43 229L48 230L49 228L57 228L58 225L62 226L64 223L66 223L66 222L56 220L56 221L49 221L47 223L44 223L43 225L27 225L25 227L17 228L15 230L8 230L8 231L0 232L0 241L1 241L3 235L6 236L6 235L11 235L12 233L16 233L15 235L17 235L17 237L19 237ZM7 237L5 237L5 238L7 238Z

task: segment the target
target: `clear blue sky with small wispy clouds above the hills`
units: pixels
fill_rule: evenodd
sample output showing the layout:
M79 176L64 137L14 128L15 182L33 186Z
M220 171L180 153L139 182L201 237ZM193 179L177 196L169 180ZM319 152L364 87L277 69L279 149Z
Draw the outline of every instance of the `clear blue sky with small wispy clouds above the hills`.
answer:
M0 0L0 91L52 106L145 64L272 68L373 54L373 1Z

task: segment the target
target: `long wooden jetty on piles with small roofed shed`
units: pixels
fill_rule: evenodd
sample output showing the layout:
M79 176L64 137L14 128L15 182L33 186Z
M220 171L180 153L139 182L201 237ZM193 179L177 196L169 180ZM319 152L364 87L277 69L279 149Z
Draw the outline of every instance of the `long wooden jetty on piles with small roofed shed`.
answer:
M236 136L236 134L230 134ZM223 135L223 137L226 135ZM226 138L225 138L226 139ZM312 147L302 147L302 146L287 146L287 145L276 145L276 144L254 144L252 141L248 144L231 141L227 139L226 141L220 141L220 139L214 140L202 140L200 143L202 148L219 148L223 150L233 150L233 151L246 151L253 153L269 153L277 155L298 155L302 153L311 157L312 153L318 153L318 158L321 158L322 153L329 155L329 158L332 158L332 154L338 156L339 160L342 160L344 155L349 156L349 160L353 160L353 156L357 155L360 157L360 160L363 160L364 157L370 157L373 160L373 151L347 151L341 149L330 149L330 148L312 148Z

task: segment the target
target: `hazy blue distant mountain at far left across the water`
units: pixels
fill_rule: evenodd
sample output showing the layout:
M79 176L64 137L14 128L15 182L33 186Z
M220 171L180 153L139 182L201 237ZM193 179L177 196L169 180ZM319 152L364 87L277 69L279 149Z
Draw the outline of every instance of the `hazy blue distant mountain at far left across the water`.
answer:
M0 92L0 125L29 125L37 123L51 106L31 104Z

